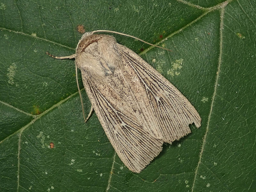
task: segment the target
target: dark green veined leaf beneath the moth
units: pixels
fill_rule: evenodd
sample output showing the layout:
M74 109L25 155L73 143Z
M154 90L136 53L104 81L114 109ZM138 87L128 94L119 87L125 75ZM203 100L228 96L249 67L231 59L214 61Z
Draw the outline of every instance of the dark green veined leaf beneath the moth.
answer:
M255 4L1 1L0 190L254 191ZM74 60L45 55L75 53L78 25L171 49L115 35L202 117L199 129L191 125L191 134L164 144L139 174L121 162L94 113L84 124ZM80 74L79 84L82 88ZM82 95L88 114L90 101L84 90Z

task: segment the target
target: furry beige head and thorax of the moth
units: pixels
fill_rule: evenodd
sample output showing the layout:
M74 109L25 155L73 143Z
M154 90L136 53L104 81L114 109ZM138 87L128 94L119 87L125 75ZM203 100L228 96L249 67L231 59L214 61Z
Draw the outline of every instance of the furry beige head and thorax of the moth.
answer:
M103 78L122 66L123 60L114 36L87 32L77 44L75 62L80 70Z

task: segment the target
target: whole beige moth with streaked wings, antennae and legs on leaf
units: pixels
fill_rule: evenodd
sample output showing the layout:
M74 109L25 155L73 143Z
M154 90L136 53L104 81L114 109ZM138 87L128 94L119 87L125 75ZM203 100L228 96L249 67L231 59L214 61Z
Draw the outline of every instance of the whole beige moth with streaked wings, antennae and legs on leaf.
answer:
M199 128L201 117L187 98L139 55L118 44L114 36L96 32L126 35L107 30L86 32L75 54L46 54L56 59L75 58L76 75L79 68L92 104L85 121L94 110L122 162L139 173L162 151L164 142L172 143L190 133L188 125L193 122Z

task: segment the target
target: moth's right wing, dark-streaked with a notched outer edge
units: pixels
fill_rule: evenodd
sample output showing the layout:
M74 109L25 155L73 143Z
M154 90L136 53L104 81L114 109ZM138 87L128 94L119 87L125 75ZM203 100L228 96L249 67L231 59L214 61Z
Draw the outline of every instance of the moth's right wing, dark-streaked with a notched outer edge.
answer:
M140 85L148 94L148 103L151 108L144 108L142 111L150 114L153 119L145 119L145 121L158 127L148 126L145 127L146 130L149 129L148 131L152 132L156 138L171 143L191 132L188 124L195 122L196 127L200 127L199 114L177 88L146 61L137 57L132 50L119 45L119 51L123 57L126 71L133 71L133 75L130 76L137 76Z

